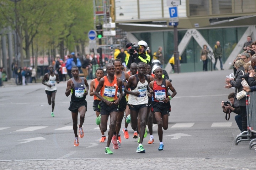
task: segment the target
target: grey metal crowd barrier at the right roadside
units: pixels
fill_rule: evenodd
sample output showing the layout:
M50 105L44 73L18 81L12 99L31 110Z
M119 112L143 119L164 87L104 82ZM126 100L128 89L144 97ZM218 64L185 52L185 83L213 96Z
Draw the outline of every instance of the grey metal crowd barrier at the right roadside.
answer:
M250 141L249 149L256 145L256 92L246 93L246 117L247 117L247 131L242 132L235 138L235 145L242 141Z

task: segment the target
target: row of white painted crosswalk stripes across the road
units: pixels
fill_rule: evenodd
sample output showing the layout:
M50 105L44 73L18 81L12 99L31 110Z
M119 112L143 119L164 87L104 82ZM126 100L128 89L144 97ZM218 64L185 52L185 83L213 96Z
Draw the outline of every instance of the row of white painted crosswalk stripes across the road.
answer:
M204 128L227 128L227 127L231 127L232 125L234 127L237 127L237 125L235 123L232 122L214 122L212 124L207 123L175 123L172 124L170 123L169 128L171 129L175 129L175 128L193 128L195 125L198 125L198 127L203 126ZM86 125L84 125L86 126ZM19 126L18 126L19 127ZM157 124L153 124L153 128L157 128ZM31 131L36 131L36 130L40 130L40 129L45 129L45 128L50 128L53 131L59 131L59 130L73 130L73 126L63 126L57 129L54 129L53 126L29 126L29 127L23 127L22 129L15 129L17 127L0 127L0 132L3 132L5 130L8 131L13 131L13 132L31 132ZM14 130L15 129L15 130ZM91 129L87 129L87 130L99 130L100 128L95 124L95 127L91 128Z

